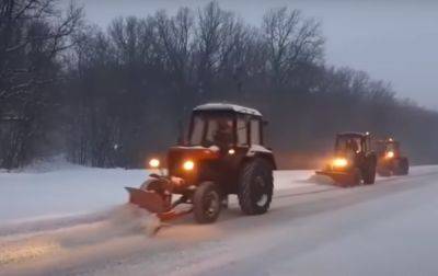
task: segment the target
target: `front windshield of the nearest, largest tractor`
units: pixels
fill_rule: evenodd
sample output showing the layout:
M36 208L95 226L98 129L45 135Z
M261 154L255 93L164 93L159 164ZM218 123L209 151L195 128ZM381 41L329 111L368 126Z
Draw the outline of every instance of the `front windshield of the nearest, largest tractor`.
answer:
M233 116L221 113L195 114L192 120L192 146L228 147L233 143Z

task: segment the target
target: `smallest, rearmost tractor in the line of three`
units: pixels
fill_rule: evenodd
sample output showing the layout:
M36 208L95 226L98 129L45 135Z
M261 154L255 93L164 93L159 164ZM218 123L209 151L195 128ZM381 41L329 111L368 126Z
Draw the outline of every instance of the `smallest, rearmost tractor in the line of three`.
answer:
M400 142L392 138L376 141L378 154L377 172L381 176L406 175L410 172L410 161L402 156Z

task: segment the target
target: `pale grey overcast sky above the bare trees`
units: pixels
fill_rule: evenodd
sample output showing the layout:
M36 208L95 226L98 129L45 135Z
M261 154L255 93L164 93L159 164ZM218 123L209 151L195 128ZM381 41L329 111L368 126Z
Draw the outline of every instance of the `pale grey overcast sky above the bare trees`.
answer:
M197 8L207 0L78 0L87 19L106 27L120 15ZM434 0L219 0L258 25L269 8L288 5L323 23L327 64L349 66L390 81L400 97L438 110L438 1Z

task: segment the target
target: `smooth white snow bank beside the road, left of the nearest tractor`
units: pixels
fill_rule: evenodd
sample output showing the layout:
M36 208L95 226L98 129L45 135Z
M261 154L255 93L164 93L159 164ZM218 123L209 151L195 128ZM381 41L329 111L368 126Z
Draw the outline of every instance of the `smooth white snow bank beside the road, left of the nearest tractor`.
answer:
M146 170L65 168L49 172L0 173L0 226L105 210L127 200Z

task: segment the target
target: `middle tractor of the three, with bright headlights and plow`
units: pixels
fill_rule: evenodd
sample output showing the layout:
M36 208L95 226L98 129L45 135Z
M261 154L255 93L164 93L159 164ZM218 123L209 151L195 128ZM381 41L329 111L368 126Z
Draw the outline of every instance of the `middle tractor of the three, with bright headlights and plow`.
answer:
M373 184L377 157L371 150L368 133L342 133L336 135L334 158L316 174L332 177L341 186Z

